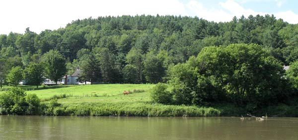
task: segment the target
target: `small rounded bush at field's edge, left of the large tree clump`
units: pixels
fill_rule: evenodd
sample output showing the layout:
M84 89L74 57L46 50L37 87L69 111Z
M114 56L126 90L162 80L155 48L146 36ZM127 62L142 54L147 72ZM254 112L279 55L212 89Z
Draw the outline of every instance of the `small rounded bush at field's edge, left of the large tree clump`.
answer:
M172 102L172 94L169 91L166 91L167 85L158 83L152 89L151 97L153 101L163 104L170 104Z

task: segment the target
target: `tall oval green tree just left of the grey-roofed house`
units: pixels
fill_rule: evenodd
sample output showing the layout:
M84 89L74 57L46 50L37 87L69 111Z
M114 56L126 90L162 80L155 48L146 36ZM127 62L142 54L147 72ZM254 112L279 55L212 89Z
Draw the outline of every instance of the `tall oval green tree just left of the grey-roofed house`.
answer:
M46 64L48 77L57 84L58 79L63 77L67 72L65 59L59 51L50 50L44 54L43 61Z

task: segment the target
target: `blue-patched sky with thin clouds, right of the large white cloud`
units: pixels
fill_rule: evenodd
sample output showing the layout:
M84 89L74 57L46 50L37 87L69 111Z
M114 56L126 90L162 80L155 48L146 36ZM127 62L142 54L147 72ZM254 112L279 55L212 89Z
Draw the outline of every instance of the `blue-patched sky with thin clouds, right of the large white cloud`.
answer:
M231 17L274 14L277 18L297 24L297 0L179 0L191 16L211 21L230 21ZM196 5L196 6L195 6Z

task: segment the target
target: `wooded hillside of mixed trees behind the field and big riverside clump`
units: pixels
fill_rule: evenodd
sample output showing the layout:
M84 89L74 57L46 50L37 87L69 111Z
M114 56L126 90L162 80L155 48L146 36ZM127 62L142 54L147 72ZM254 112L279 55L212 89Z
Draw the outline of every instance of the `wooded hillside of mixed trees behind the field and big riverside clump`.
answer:
M51 69L64 71L44 60L46 53L55 50L66 62L67 74L73 74L77 66L83 70L81 82L166 82L169 68L198 56L204 47L230 44L257 44L281 65L289 65L298 58L298 25L273 15L234 17L224 23L141 15L75 20L65 28L40 34L27 28L25 34L0 35L0 79L1 84L9 84L13 68L24 70L41 62L47 65L45 76L53 79Z

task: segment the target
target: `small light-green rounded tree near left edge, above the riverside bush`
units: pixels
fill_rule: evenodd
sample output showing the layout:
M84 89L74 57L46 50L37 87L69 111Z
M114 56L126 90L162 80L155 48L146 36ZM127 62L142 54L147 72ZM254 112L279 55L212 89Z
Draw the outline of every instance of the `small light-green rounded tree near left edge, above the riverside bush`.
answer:
M9 85L17 86L23 79L23 69L20 66L12 67L6 75L6 82Z

